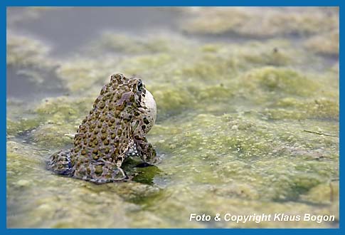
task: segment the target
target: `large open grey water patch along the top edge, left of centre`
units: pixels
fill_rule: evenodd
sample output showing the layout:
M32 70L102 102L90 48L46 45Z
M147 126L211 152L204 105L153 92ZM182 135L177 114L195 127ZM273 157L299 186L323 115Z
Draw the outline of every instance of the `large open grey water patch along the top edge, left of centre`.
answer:
M20 16L25 9L11 8L8 14ZM96 38L104 30L140 35L149 31L174 31L181 14L169 8L80 7L43 11L39 19L13 23L10 28L34 34L54 48L53 56L65 56Z

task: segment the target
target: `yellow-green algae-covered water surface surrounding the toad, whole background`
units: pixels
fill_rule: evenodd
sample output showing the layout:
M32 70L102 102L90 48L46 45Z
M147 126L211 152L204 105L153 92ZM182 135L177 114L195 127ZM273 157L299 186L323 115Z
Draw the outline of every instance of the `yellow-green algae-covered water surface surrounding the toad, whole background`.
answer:
M339 227L338 8L8 8L6 46L8 227ZM154 95L159 163L52 174L111 73Z

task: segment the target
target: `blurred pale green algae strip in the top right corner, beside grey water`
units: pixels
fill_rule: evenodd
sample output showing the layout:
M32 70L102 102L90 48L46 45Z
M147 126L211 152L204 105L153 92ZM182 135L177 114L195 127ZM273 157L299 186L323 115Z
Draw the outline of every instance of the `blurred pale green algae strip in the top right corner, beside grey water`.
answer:
M188 11L189 9L187 9ZM338 8L265 9L245 7L199 8L191 12L181 29L189 33L236 33L241 36L272 37L314 34L336 28Z

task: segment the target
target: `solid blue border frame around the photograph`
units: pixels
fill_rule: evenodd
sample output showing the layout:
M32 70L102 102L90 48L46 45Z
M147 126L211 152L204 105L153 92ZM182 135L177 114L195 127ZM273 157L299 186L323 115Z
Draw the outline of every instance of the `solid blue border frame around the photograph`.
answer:
M1 79L0 85L0 95L1 95L1 122L0 122L0 130L1 133L1 164L2 164L2 177L1 177L1 185L4 191L1 193L1 228L0 231L6 234L60 234L60 233L68 233L68 234L91 234L91 233L102 233L102 234L174 234L179 232L180 234L189 234L189 233L196 233L196 234L228 234L228 233L235 233L235 234L272 234L279 232L280 234L344 234L344 226L339 221L339 229L6 229L6 7L7 6L339 6L339 40L341 42L341 31L344 28L344 24L341 23L341 1L321 1L321 0L290 0L290 1L272 1L272 0L262 0L262 1L222 1L222 0L151 0L147 2L139 1L139 0L121 0L121 1L110 1L110 0L75 0L75 1L68 1L68 0L2 0L0 1L0 25L1 25L1 46L0 46L0 54L3 61L1 63L1 74L3 75L3 79ZM341 53L341 46L339 47L339 66L341 67L341 61L343 61L343 53ZM339 89L341 91L342 88L342 81L341 79L341 70L339 70ZM339 95L339 101L341 104L344 95ZM343 117L343 111L340 108L339 111L339 130L340 130L340 146L339 146L339 156L342 152L344 152L343 148L341 147L341 140L343 140L343 125L341 125L341 117ZM339 160L340 168L342 168L342 162ZM341 174L339 172L341 177ZM340 194L342 194L342 182L340 187ZM341 197L339 197L341 200ZM339 219L341 218L341 211L342 211L342 203L340 203L340 215Z

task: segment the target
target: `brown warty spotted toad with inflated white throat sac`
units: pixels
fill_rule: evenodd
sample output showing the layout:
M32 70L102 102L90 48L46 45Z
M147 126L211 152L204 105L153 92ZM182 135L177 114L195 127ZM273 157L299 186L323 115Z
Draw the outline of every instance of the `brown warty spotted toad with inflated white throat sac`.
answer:
M156 103L142 80L111 75L79 126L73 148L53 154L48 169L97 184L128 179L121 168L127 157L138 155L144 162L156 157L145 137L155 120Z

